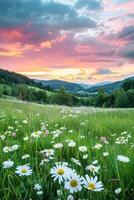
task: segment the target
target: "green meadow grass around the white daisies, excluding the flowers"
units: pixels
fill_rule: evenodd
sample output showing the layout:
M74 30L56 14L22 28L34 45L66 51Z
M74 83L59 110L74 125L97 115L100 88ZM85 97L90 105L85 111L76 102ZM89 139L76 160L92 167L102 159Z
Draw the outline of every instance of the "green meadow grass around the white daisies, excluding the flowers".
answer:
M79 111L79 112L78 112ZM0 139L0 199L67 199L69 192L64 188L64 184L53 181L50 170L56 162L68 162L72 169L75 169L80 176L93 176L85 167L94 160L98 160L100 165L99 173L96 174L102 181L104 190L100 192L88 191L83 187L82 191L73 194L74 198L87 200L107 200L107 199L134 199L134 110L132 109L94 109L94 108L68 108L63 106L38 105L24 103L21 101L0 100L0 135L5 139ZM24 124L23 120L28 123ZM31 133L41 130L41 123L45 123L49 133L55 130L62 130L59 137L53 139L53 134L45 135L35 139ZM13 128L11 128L13 127ZM72 130L72 133L70 132ZM126 131L125 135L121 135ZM13 133L16 132L16 136ZM81 138L81 136L85 138ZM118 137L125 138L130 135L126 144L116 144ZM29 139L24 141L23 138ZM101 140L105 137L108 144ZM66 140L71 139L76 142L74 148L68 147ZM62 149L55 149L53 160L40 166L44 159L40 153L43 149L53 149L53 143L63 143ZM102 148L93 148L97 143L102 144ZM14 152L4 153L5 146L14 144L20 145ZM86 146L87 153L81 153L79 146ZM103 152L108 152L107 157ZM30 158L23 160L22 156L29 154ZM88 154L88 159L82 159L83 154ZM123 163L117 160L117 155L124 155L130 162ZM14 166L3 169L3 162L11 159ZM74 164L71 158L78 159L81 166ZM15 173L16 167L29 163L33 173L31 176L20 177ZM43 195L38 196L34 184L42 185ZM119 195L114 190L121 188ZM61 189L63 195L58 197L57 190Z

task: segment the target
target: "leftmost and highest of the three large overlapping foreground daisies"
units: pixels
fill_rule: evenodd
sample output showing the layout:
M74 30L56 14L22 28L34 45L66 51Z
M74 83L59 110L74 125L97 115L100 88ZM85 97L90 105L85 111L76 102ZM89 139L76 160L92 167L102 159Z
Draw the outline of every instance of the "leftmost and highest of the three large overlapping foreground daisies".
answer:
M51 168L50 174L54 178L54 181L58 180L60 184L63 180L67 180L70 174L70 169L65 165L59 164Z

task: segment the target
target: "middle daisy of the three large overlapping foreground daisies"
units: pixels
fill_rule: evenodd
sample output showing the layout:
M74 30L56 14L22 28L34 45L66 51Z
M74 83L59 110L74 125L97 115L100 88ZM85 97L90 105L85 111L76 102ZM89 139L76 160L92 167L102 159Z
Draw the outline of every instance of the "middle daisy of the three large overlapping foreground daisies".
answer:
M82 190L83 179L77 174L72 174L68 181L65 182L65 189L71 194Z

